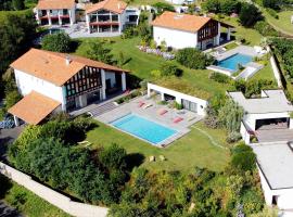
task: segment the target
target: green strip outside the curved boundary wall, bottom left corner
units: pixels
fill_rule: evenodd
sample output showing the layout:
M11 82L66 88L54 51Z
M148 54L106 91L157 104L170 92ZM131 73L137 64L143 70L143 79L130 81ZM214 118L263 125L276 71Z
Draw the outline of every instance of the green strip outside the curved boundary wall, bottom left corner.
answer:
M69 216L49 204L33 192L26 190L14 182L4 196L4 202L17 208L24 216L29 217L66 217Z

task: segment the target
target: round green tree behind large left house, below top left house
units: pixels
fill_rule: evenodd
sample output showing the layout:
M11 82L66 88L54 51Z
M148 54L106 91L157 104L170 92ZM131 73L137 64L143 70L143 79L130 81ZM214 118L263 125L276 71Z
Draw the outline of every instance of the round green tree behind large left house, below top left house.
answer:
M66 53L71 51L72 39L65 33L47 35L41 41L41 48L47 51Z

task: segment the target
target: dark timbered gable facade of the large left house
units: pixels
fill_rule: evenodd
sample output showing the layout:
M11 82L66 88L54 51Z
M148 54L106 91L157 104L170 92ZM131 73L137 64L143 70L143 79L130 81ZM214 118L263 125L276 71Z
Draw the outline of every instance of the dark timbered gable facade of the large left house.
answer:
M66 100L91 92L102 88L101 69L95 67L84 67L79 73L66 81Z

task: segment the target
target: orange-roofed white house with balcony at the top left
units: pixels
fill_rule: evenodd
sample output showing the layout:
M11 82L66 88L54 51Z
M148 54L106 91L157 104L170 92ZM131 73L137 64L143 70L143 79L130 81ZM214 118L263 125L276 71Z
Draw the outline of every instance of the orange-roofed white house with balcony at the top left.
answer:
M73 25L75 17L75 0L39 0L35 13L39 25Z

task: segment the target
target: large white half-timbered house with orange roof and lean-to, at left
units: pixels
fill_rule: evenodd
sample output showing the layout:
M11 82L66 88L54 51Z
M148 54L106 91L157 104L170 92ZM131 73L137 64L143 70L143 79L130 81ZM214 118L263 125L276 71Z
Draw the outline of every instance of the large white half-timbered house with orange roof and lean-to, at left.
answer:
M127 71L86 58L30 49L11 64L24 97L9 110L28 124L39 124L55 110L68 112L126 90Z

